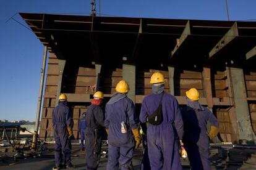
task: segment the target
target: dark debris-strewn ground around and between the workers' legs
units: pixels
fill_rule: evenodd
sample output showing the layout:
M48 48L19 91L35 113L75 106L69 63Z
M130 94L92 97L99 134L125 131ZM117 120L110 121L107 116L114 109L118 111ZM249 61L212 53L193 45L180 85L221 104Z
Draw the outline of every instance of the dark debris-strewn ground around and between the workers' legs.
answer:
M28 158L17 159L15 161L13 158L9 157L3 159L4 153L0 153L0 169L51 169L54 166L54 152L53 145L47 146L49 150L43 152L41 156L33 158L30 156ZM103 147L103 150L105 148ZM143 148L135 150L134 158L132 160L134 164L134 169L140 169L140 163L142 160ZM213 148L210 150L210 160L212 169L256 169L256 150L246 150L246 149L236 149L230 148L223 150L218 150ZM4 161L3 161L4 160ZM187 158L181 158L182 168L190 169L189 161ZM74 145L72 147L72 163L75 165L74 169L85 169L85 152L79 150L79 145ZM101 169L106 169L107 158L101 158L100 167Z

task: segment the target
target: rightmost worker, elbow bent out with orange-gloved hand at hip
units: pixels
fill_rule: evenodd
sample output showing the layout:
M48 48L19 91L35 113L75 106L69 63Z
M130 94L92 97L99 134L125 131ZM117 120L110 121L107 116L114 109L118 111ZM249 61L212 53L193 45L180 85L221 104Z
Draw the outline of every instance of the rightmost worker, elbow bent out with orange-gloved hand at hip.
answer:
M192 170L210 170L209 138L218 134L218 119L198 102L200 95L197 89L186 91L187 105L181 110L184 122L184 148L187 151ZM211 130L207 132L207 121Z

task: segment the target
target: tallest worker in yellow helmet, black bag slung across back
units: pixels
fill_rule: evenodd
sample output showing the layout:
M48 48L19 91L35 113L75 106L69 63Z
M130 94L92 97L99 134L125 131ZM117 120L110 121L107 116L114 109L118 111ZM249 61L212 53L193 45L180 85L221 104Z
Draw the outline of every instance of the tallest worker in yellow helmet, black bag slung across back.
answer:
M178 142L183 136L183 121L177 99L164 92L164 76L160 72L153 73L150 84L153 84L153 93L143 99L140 121L147 122L160 103L162 114L160 124L153 125L148 121L147 144L151 169L182 169Z

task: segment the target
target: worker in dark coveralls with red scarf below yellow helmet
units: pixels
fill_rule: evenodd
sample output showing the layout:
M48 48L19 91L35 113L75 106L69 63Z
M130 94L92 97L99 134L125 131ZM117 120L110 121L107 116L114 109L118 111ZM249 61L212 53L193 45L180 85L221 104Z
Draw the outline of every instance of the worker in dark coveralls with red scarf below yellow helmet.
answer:
M85 159L87 170L97 169L100 164L101 136L99 131L104 127L104 113L101 108L103 92L97 91L93 95L92 104L85 114Z

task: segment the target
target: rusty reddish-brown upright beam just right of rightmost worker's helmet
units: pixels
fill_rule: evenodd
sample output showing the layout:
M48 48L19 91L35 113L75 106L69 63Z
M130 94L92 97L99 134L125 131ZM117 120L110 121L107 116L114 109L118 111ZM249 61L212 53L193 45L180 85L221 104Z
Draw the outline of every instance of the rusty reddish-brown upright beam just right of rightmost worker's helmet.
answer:
M203 67L203 93L207 98L208 108L213 108L213 94L211 92L211 69Z

